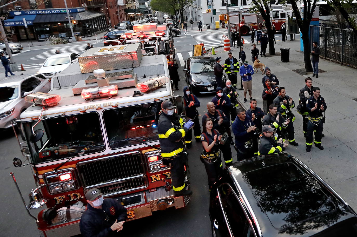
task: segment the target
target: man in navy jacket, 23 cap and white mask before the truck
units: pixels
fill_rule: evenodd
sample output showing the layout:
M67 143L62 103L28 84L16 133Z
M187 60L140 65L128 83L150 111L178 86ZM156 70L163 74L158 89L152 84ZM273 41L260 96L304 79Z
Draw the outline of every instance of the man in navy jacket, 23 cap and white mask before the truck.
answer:
M126 220L126 208L112 198L103 198L97 188L86 192L87 210L79 222L83 237L111 237L123 229Z

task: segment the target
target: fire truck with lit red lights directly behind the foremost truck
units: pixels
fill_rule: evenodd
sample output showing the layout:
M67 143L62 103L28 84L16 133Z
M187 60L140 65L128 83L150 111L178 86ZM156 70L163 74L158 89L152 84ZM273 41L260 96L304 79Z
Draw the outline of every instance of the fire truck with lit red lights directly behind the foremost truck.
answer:
M105 45L140 43L143 54L163 54L167 61L175 59L174 39L167 25L156 23L136 24L134 32L127 32L118 40L105 40Z

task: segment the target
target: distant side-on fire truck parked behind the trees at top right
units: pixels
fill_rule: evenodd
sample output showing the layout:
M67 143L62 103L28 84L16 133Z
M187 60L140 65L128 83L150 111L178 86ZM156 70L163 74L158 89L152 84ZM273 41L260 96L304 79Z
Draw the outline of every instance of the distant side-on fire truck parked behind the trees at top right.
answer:
M289 16L292 16L291 10L284 10L284 9L272 9L270 11L270 19L271 24L275 26L277 31L282 29L282 26L286 24L286 21ZM250 32L250 27L255 28L256 30L264 30L265 26L259 27L260 23L264 25L264 19L260 14L251 14L248 12L244 12L241 15L241 22L240 22L240 30L241 35L248 35ZM231 21L239 22L238 16L231 16Z

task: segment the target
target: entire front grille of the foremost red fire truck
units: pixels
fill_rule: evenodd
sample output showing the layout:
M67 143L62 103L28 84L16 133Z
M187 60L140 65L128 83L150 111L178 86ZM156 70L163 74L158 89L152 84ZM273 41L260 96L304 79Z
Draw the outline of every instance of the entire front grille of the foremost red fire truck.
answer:
M102 187L103 193L110 193L111 186L123 190L142 186L140 178L145 176L142 155L138 151L79 162L77 170L84 188ZM123 187L119 187L121 182Z

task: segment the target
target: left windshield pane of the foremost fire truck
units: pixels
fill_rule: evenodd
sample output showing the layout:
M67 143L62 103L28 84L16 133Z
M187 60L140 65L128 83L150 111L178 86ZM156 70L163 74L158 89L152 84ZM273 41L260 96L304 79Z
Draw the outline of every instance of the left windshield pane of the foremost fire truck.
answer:
M27 141L36 122L24 123ZM34 163L87 155L105 148L96 112L44 119L34 127L35 131L38 129L44 130L44 136L37 142L29 142Z

